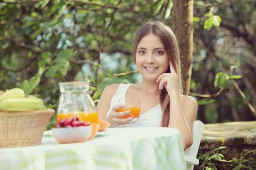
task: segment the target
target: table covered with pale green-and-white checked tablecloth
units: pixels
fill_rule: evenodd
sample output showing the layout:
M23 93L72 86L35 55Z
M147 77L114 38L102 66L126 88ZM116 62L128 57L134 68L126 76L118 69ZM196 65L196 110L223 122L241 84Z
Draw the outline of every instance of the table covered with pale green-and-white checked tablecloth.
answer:
M92 140L58 144L45 131L40 145L1 148L0 170L185 170L174 128L108 128Z

